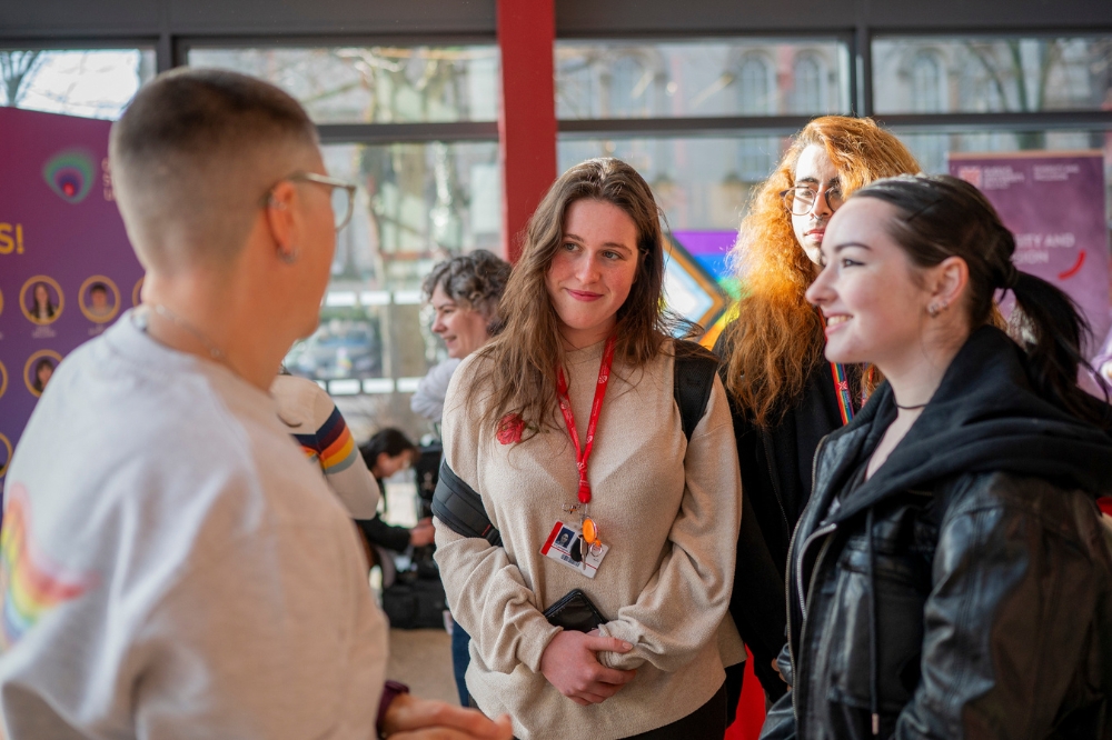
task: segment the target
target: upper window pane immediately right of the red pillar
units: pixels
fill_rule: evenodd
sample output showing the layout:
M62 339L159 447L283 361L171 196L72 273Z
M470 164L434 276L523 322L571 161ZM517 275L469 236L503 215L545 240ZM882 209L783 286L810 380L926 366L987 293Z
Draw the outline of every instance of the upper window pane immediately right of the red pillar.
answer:
M832 39L558 41L565 120L844 113L848 52Z

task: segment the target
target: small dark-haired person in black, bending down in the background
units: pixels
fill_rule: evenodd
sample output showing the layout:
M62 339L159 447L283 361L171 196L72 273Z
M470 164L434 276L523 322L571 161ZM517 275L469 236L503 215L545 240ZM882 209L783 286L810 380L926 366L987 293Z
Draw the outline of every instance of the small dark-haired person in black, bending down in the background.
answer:
M381 500L386 501L386 479L413 464L417 446L400 430L387 427L375 432L367 443L359 448L364 467L370 471L367 480L377 483ZM435 531L431 519L421 519L416 527L387 524L377 511L371 517L357 518L356 524L367 538L373 552L370 566L383 569L383 586L394 581L394 561L385 550L405 552L408 548L421 548L433 543Z

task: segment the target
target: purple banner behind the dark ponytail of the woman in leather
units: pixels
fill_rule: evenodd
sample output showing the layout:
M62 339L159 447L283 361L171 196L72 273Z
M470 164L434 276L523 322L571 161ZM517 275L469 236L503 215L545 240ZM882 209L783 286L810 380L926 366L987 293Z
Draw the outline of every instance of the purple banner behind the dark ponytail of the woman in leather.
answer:
M950 173L992 201L1015 234L1015 266L1078 302L1096 354L1112 324L1103 153L951 154Z

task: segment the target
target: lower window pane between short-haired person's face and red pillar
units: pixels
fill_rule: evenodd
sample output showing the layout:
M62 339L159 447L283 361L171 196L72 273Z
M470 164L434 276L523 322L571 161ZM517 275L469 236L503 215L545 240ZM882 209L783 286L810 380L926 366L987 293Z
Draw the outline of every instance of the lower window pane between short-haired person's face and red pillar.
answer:
M329 144L325 163L356 182L355 216L338 234L320 327L294 347L290 372L325 383L366 433L397 426L419 436L409 393L446 358L428 330L420 284L439 260L497 252L498 147L478 143Z

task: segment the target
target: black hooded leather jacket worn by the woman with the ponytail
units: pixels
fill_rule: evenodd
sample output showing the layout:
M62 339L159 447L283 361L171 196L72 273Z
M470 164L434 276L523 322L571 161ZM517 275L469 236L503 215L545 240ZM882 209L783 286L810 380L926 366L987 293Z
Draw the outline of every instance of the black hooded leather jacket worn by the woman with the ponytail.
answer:
M992 327L854 486L895 418L885 383L818 452L762 737L1112 738L1112 437Z

